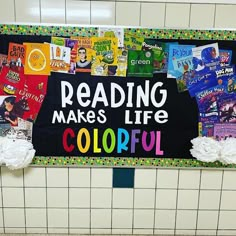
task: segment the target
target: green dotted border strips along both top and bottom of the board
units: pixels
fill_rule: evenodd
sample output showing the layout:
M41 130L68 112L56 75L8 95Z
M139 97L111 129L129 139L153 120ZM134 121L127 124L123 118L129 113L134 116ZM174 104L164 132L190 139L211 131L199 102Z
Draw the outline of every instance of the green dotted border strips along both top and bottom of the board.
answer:
M168 40L236 40L235 30L222 29L151 29L124 28L125 33L136 36ZM1 24L0 35L38 36L97 36L98 27L70 25L18 25ZM211 167L235 168L235 164L220 162L205 163L196 159L179 158L139 158L139 157L75 157L75 156L35 156L32 166L73 166L73 167Z

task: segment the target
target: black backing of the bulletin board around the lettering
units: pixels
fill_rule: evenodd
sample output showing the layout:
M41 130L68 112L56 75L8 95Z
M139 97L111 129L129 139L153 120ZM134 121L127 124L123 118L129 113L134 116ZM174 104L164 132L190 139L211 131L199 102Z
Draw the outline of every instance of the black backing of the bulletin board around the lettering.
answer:
M165 40L162 40L165 41ZM169 40L170 41L170 40ZM202 41L202 40L173 40L179 41L181 44L193 44L196 46L209 44L213 42L219 43L219 48L221 49L231 49L235 48L234 41ZM0 53L7 54L8 43L23 43L23 42L50 42L50 37L47 36L23 36L23 35L0 35ZM235 53L233 52L233 64L235 64ZM74 104L68 107L66 112L69 110L82 109L78 106L76 99L76 89L81 82L89 84L91 89L91 98L93 97L93 91L95 91L98 82L102 82L106 90L106 94L109 101L109 91L110 83L114 82L124 89L126 88L127 82L134 82L135 85L143 85L145 80L150 81L150 87L156 81L161 81L164 83L164 88L168 91L168 97L165 105L161 108L166 110L169 114L168 122L166 124L158 124L153 120L149 122L148 125L124 125L124 110L125 105L118 109L99 107L106 111L107 122L105 124L53 124L52 116L54 110L61 109L61 80L69 81L74 87L73 97ZM135 94L134 94L135 96ZM92 110L90 107L83 109ZM135 110L135 108L133 109ZM156 111L155 107L150 106L149 108L143 108L143 110L153 110ZM49 76L48 81L48 91L43 102L42 108L38 115L38 118L33 127L33 145L36 149L36 155L39 156L117 156L117 157L157 157L155 152L144 152L140 145L136 145L136 153L130 153L129 151L123 152L122 154L117 154L116 149L111 154L106 154L105 152L94 154L93 146L89 152L85 154L79 153L78 149L71 153L66 153L62 146L62 134L66 128L72 128L77 134L78 130L81 128L86 128L92 130L93 128L99 129L99 139L101 140L101 135L103 130L106 128L112 128L115 132L117 128L124 128L128 131L131 129L141 129L141 130L159 130L161 131L161 149L164 151L164 158L192 158L189 150L191 149L190 140L198 136L198 108L194 98L191 98L188 92L178 93L176 82L174 79L167 79L166 74L155 74L153 78L135 78L135 77L97 77L90 76L86 73L79 73L76 75L59 74L52 73ZM92 131L91 131L92 136ZM92 137L91 137L92 139ZM73 142L73 141L72 141ZM76 139L74 140L76 146Z

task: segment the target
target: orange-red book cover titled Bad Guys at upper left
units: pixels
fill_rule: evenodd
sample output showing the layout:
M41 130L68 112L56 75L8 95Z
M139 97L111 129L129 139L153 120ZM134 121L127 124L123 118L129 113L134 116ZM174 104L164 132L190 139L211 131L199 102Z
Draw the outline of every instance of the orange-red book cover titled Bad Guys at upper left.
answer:
M11 68L23 67L25 65L25 46L18 43L9 43L8 61Z

